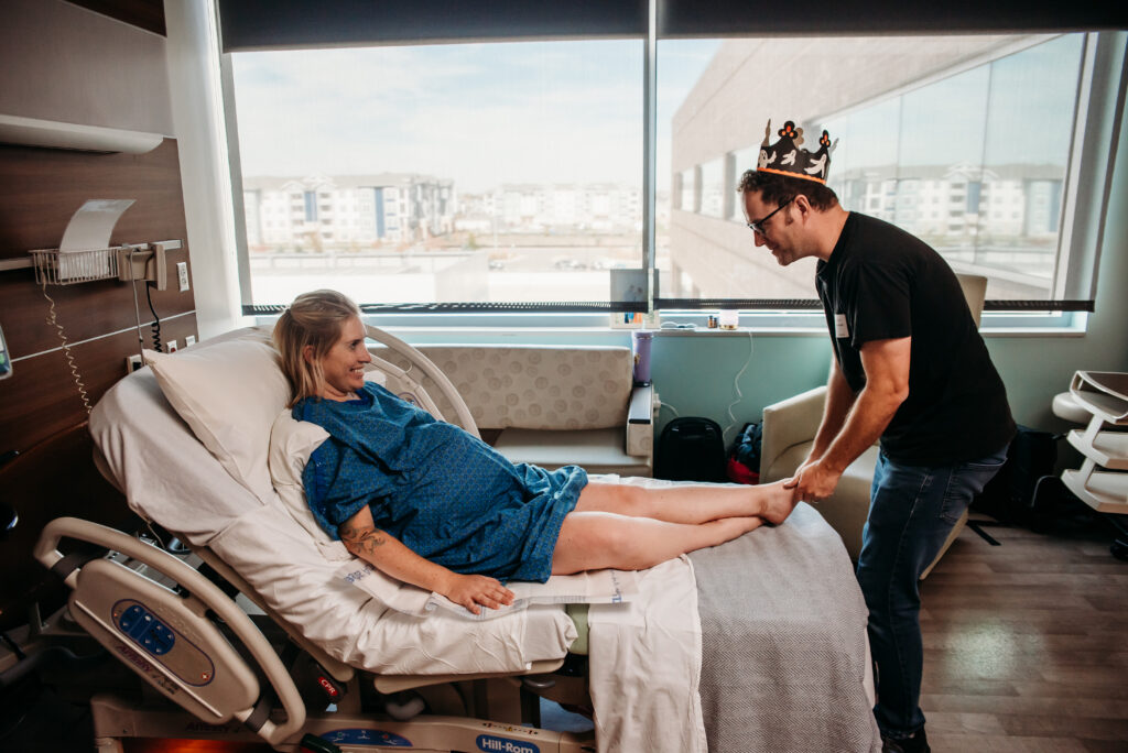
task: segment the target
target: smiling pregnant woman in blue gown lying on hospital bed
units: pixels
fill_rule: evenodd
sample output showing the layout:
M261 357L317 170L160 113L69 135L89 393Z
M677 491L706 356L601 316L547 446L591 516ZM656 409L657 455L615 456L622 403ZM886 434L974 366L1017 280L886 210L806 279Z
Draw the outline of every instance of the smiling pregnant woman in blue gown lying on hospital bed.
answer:
M329 434L302 473L309 506L354 556L475 614L512 603L501 579L650 568L795 505L782 481L653 489L514 466L367 382L364 336L355 303L325 290L299 295L274 328L293 417Z

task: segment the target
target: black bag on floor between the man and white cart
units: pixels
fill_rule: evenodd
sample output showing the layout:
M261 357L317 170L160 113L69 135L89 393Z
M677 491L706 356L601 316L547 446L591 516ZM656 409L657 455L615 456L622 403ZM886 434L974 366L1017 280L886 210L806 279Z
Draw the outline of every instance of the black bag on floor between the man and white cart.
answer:
M1006 462L971 503L972 512L1003 523L1029 525L1039 479L1054 476L1056 434L1019 426L1006 450Z

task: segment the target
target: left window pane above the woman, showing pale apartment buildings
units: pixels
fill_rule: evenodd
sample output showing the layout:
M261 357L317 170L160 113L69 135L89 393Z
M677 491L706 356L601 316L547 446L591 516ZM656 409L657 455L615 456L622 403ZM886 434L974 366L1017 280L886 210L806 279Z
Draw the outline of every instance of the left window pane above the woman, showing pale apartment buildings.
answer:
M642 265L642 51L233 54L254 303L607 301Z

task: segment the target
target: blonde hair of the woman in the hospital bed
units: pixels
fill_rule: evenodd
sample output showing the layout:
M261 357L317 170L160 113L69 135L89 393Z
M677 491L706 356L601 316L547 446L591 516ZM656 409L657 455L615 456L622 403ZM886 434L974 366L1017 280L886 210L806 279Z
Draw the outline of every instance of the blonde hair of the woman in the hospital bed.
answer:
M282 372L290 382L290 406L321 393L321 358L341 338L345 322L360 318L360 309L335 290L315 290L293 299L274 325L274 346L282 355ZM307 362L302 352L312 346Z

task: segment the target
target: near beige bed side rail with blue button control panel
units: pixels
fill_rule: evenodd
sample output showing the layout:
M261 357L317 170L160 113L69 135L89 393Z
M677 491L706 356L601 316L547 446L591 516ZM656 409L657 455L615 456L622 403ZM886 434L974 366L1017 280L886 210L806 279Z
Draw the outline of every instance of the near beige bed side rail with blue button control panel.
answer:
M185 597L109 559L65 560L62 539L121 552L188 591ZM71 613L103 645L169 699L204 721L235 718L272 745L292 737L306 723L293 680L250 618L219 587L171 555L121 531L76 517L59 517L43 529L35 558L71 588ZM222 619L254 657L287 715L267 718L258 681L208 619Z

